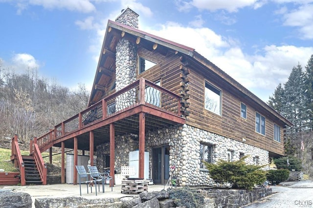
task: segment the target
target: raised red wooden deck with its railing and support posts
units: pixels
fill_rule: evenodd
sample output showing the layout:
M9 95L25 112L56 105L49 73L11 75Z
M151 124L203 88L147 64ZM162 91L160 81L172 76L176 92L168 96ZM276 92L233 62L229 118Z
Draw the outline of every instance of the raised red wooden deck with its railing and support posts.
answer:
M95 151L99 153L97 146L108 144L110 175L114 178L116 139L134 135L139 151L138 176L144 178L146 134L184 124L180 102L179 95L140 78L58 124L53 130L39 137L37 144L40 151L50 148L50 162L52 147L61 148L62 183L65 183L65 149L74 150L73 183L76 184L75 165L78 163L78 150L82 150L83 154L89 151L90 165L93 165L93 154Z

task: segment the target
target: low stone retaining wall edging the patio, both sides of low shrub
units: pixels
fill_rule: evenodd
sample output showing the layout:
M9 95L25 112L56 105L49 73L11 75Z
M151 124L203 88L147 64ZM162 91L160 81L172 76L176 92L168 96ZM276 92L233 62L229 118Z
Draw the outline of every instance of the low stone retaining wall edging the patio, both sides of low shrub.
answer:
M200 208L239 208L258 201L272 193L271 189L256 188L252 191L237 189L199 190L204 196ZM85 199L82 197L43 198L35 200L36 208L97 207L97 208L171 208L176 207L169 198L169 191L143 192L122 198Z

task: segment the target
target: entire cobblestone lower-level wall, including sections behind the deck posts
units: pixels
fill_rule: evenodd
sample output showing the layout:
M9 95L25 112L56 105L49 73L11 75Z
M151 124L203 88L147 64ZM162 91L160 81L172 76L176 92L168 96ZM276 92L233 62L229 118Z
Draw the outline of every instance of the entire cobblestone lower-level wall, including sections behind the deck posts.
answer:
M170 146L169 165L176 167L180 186L215 186L208 171L200 169L200 143L213 146L213 162L226 160L226 151L232 151L233 160L239 159L239 154L251 155L246 162L253 164L253 157L259 157L259 165L268 165L268 151L261 148L206 132L204 130L182 125L173 128L148 132L145 138L145 151L150 152L149 171L152 167L152 148L162 145ZM122 136L115 138L115 170L128 165L128 153L138 150L138 137ZM100 155L100 156L99 156ZM109 144L97 146L97 164L104 164L104 156L110 155ZM268 169L269 166L266 167ZM151 173L149 173L150 175Z

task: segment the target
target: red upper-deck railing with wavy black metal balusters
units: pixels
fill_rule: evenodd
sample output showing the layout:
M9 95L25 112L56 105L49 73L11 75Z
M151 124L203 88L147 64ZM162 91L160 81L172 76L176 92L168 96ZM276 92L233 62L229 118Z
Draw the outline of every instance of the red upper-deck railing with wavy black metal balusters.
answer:
M181 115L179 95L151 81L140 78L116 93L103 98L86 110L56 125L53 130L37 139L37 145L41 151L45 151L52 147L54 140L64 135L78 131L92 125L94 122L107 119L116 113L138 105L149 105L160 111L178 116Z

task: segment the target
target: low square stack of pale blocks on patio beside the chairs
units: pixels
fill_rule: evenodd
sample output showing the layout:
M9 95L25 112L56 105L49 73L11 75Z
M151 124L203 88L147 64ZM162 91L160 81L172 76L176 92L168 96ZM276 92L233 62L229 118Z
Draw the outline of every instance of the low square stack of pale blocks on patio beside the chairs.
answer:
M140 193L148 191L147 180L122 180L121 193Z

